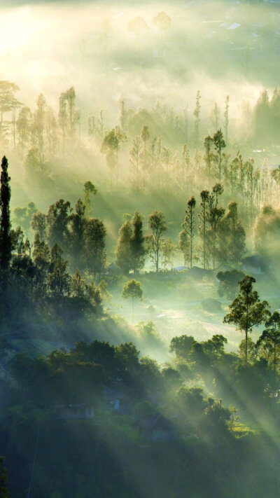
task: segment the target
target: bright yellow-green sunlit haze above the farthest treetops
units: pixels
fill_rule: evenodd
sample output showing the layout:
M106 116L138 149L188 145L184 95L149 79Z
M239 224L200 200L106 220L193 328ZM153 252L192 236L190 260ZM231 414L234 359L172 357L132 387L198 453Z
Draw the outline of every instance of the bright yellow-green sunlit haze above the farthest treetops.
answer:
M172 24L161 40L153 18L162 10ZM134 106L160 97L193 109L197 90L205 106L229 94L237 111L277 83L265 65L272 13L236 2L2 1L0 79L17 83L30 106L40 92L55 106L74 85L85 113L120 96ZM139 34L127 29L137 16L146 22Z

